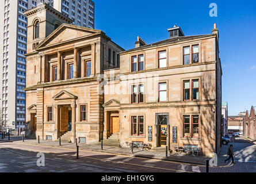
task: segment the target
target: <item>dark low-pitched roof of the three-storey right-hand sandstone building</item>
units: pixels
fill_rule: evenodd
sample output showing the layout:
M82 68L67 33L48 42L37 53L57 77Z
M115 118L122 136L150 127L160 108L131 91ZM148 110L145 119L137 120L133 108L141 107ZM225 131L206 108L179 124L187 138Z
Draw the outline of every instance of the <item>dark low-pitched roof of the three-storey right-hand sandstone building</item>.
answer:
M201 35L196 35L196 36L178 36L178 37L173 37L173 38L170 38L170 39L158 41L158 42L155 42L155 43L152 43L152 44L143 45L142 47L129 49L127 51L123 51L123 52L120 52L120 53L137 51L137 50L140 50L140 49L155 47L155 46L158 46L158 45L178 43L178 42L186 41L186 40L202 39L202 38L205 38L205 37L210 37L210 36L215 36L215 35L216 34L201 34Z

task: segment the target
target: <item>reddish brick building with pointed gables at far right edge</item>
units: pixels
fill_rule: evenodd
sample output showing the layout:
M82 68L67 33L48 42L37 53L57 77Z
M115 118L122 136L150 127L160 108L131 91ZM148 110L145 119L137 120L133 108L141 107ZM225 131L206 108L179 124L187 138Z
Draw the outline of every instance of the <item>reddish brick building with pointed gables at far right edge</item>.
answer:
M251 106L250 111L246 111L244 118L244 136L256 139L256 106Z

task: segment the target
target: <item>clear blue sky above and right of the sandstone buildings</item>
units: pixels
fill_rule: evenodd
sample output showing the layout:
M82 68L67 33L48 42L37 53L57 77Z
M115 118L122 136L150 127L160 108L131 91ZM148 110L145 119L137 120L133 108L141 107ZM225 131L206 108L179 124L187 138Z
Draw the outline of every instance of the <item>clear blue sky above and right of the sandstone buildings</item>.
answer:
M147 44L167 39L167 28L174 24L189 36L209 34L216 23L223 70L222 101L228 102L228 114L236 115L256 105L256 1L94 2L95 29L103 30L124 49L134 48L137 36ZM217 4L217 17L209 16L210 3Z

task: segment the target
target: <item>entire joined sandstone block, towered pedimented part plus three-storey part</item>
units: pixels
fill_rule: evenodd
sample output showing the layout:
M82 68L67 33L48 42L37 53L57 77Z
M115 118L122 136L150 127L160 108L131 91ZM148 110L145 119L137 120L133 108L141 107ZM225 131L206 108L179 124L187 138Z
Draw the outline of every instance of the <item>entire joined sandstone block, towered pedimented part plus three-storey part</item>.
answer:
M38 13L40 41L33 39ZM219 31L170 38L124 51L101 30L70 25L48 5L28 16L26 122L29 133L88 144L131 142L152 148L221 146ZM48 18L51 20L48 21ZM54 30L55 18L62 23ZM47 29L46 29L47 28ZM47 31L46 31L47 30Z

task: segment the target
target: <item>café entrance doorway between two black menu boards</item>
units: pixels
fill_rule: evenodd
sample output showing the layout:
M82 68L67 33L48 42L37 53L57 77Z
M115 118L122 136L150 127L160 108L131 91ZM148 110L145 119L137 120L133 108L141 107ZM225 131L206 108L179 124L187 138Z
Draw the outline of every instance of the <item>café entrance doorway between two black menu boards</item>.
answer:
M158 128L158 147L165 147L169 139L169 113L156 113L155 118Z

